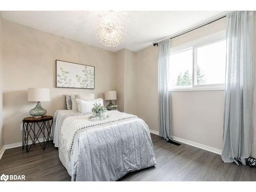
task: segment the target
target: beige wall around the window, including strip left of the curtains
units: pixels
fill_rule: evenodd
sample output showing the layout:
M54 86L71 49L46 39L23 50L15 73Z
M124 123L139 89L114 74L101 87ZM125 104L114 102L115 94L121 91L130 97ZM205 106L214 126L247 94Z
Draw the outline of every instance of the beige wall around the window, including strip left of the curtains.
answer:
M225 19L171 41L172 47L225 29ZM137 115L150 129L158 124L158 48L148 47L136 53ZM224 91L172 92L173 135L221 150Z

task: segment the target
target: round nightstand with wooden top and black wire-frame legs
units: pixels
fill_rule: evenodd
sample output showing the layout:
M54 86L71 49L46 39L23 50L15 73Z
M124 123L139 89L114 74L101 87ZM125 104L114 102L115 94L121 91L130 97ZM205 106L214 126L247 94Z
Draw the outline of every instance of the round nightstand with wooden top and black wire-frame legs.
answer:
M40 118L26 117L23 119L23 134L22 134L22 149L26 146L26 151L29 152L32 145L38 142L45 150L49 141L53 141L53 134L51 132L53 125L52 116L42 116ZM39 136L43 136L41 142ZM29 145L31 142L31 145Z

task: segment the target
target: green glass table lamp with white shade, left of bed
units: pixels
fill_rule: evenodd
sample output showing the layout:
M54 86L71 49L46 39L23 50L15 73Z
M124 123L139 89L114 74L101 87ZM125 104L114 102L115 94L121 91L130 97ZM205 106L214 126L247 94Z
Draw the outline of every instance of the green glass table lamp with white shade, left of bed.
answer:
M50 89L47 88L28 88L28 101L37 102L34 109L29 114L35 118L44 116L47 111L41 107L40 101L50 101Z

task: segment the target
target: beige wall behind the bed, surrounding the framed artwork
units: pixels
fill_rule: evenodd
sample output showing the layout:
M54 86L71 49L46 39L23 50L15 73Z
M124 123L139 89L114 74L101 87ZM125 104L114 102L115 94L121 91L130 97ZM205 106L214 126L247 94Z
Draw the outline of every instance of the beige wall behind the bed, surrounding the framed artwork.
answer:
M50 88L42 102L48 115L65 109L65 94L115 90L115 53L4 20L4 140L22 141L20 123L36 103L27 101L29 87ZM55 59L95 66L95 90L55 88Z

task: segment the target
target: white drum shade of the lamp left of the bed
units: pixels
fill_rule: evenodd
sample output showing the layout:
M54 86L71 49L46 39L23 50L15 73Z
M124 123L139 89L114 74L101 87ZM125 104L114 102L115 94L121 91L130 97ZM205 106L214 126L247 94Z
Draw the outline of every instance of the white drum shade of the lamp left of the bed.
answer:
M50 89L28 88L28 101L50 101Z

